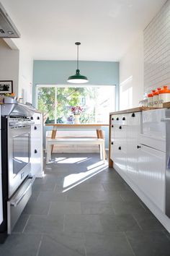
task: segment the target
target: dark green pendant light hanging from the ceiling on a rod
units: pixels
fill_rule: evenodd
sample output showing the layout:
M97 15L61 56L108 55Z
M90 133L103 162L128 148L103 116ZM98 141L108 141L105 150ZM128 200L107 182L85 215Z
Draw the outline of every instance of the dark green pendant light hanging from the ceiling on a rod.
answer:
M79 69L79 46L81 45L81 43L76 42L75 44L77 46L77 69L76 69L76 74L73 74L73 75L71 75L71 77L68 77L67 82L72 82L72 83L75 83L75 84L83 84L85 82L89 82L89 80L87 79L87 77L80 74L80 69Z

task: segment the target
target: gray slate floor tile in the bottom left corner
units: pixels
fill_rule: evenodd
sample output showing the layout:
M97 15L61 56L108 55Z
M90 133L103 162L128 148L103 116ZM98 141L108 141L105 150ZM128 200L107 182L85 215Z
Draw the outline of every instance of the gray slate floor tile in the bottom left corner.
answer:
M36 256L41 236L35 234L11 234L0 244L1 256Z

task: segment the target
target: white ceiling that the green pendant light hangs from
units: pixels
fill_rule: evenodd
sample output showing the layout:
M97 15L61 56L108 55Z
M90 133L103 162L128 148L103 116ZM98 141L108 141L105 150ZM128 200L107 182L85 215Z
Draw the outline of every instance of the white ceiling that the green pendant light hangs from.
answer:
M33 59L119 61L166 0L0 0Z

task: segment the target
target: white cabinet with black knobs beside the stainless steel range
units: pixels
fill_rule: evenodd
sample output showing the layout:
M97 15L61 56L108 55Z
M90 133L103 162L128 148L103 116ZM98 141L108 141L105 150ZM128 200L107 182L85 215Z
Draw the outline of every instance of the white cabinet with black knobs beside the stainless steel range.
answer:
M32 116L35 124L31 127L31 174L42 177L42 114Z

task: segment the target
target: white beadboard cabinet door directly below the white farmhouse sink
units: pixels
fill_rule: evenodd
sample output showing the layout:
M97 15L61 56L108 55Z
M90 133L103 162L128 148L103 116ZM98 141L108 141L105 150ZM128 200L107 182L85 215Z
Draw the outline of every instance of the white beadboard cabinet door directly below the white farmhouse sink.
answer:
M164 211L166 154L141 145L138 158L138 187Z

